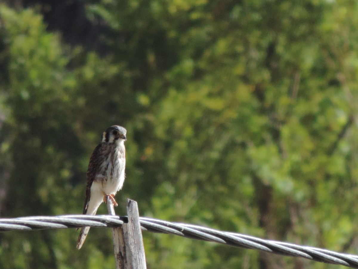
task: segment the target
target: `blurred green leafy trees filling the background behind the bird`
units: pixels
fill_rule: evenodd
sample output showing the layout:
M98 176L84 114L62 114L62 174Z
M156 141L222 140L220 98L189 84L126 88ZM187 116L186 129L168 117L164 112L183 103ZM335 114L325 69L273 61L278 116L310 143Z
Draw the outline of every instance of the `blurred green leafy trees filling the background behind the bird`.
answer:
M130 197L143 216L357 254L356 1L85 0L93 44L48 27L47 2L0 4L1 217L81 213L89 156L120 124L117 214ZM74 229L4 232L0 267L113 268L110 233L77 251ZM339 267L143 236L148 268Z

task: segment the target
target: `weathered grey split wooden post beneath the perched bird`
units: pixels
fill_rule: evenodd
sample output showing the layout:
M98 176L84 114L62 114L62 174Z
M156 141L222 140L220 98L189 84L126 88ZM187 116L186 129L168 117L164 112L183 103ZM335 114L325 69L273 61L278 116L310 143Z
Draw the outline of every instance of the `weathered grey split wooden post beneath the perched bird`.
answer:
M112 200L107 197L108 213L115 216ZM138 204L127 199L128 223L112 228L116 269L146 269Z

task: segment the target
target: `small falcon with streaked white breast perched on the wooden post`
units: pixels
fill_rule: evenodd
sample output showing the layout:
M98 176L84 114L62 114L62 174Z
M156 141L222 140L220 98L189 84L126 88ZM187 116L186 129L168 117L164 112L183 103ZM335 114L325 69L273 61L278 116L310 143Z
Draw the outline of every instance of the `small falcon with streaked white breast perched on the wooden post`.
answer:
M102 134L100 144L93 150L87 170L86 199L83 214L95 215L102 202L109 197L114 206L118 206L115 195L122 189L125 179L127 130L113 125ZM77 249L81 249L89 227L82 227L77 240Z

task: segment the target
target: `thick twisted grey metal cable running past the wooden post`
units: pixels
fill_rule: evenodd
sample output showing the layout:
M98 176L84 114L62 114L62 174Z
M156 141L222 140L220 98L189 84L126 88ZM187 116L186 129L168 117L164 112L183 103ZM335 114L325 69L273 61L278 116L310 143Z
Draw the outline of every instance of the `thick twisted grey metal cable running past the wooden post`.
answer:
M235 247L266 251L273 254L301 257L329 264L358 268L358 255L338 253L311 246L261 239L235 232L224 232L187 223L169 222L155 218L140 217L142 230L179 235L191 239L217 242ZM43 230L91 227L117 227L127 223L126 216L110 215L63 215L0 218L0 231Z

